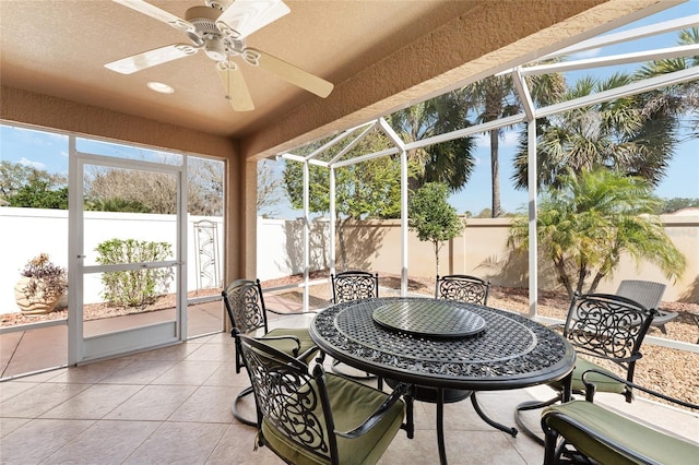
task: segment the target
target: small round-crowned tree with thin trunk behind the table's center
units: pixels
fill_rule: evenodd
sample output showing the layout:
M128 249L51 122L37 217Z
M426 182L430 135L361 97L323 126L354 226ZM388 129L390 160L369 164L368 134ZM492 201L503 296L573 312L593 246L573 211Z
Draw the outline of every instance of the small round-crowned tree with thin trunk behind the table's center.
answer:
M449 188L443 182L427 182L411 196L408 227L422 241L430 241L435 250L435 265L439 274L439 250L453 239L465 225L457 208L447 201Z

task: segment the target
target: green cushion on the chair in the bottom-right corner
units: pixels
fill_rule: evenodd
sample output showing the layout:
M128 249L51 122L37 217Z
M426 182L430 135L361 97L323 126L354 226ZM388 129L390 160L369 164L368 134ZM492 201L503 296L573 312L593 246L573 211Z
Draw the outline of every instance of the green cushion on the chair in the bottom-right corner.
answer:
M638 457L645 457L645 463L692 464L699 457L699 445L643 426L591 402L572 401L552 405L544 409L543 415L549 428L599 463L642 463ZM588 431L576 422L584 425Z

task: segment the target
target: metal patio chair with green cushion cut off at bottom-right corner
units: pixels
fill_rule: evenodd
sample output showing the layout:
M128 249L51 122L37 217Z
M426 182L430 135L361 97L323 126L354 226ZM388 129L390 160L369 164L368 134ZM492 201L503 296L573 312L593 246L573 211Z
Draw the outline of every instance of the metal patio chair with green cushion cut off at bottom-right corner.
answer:
M601 370L582 374L585 401L571 401L546 407L542 414L545 433L544 464L601 463L601 464L695 464L699 445L665 434L657 429L593 404L595 383L605 379L625 385L628 390L643 391L655 397L699 409L694 405L656 391L633 384Z

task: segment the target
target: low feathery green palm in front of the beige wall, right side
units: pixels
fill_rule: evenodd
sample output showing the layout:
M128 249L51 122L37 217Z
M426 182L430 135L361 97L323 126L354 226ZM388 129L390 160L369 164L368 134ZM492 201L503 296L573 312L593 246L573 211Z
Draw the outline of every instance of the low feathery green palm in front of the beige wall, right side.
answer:
M648 181L606 168L569 170L559 187L546 189L537 217L538 242L570 297L573 291L594 293L603 278L613 276L623 253L637 263L654 263L668 279L682 276L686 259L654 215L661 202ZM520 216L509 243L526 250L528 233L528 218Z

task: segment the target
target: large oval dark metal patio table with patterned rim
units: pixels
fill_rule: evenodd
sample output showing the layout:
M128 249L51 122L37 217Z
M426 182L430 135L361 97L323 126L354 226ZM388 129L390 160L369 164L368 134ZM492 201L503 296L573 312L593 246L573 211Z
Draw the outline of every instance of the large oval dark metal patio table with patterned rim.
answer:
M419 308L437 320L463 309L483 319L485 327L477 334L443 337L377 323L377 309L396 305ZM316 344L341 362L437 389L441 463L447 463L439 415L445 390L499 391L545 384L569 378L576 362L572 346L542 324L503 310L450 300L388 297L339 303L319 312L309 331ZM569 380L567 384L569 397Z

